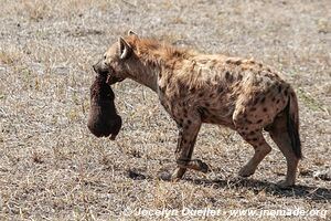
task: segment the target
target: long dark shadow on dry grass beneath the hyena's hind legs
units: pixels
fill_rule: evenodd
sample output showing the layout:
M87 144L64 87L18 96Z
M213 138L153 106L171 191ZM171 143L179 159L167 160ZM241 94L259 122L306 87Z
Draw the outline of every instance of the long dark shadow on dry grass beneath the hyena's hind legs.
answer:
M318 188L314 186L297 185L292 188L280 188L277 185L268 181L260 181L250 178L233 178L233 179L186 179L195 185L211 187L215 189L249 189L255 193L265 191L268 194L277 197L303 198L313 201L331 202L331 189Z

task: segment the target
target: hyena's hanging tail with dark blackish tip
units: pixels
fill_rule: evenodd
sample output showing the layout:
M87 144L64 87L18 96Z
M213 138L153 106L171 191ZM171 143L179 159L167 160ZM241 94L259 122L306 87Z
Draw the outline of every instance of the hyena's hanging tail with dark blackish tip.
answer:
M292 150L296 157L300 159L302 158L302 151L299 135L299 107L295 93L290 93L285 113L287 115L287 131L291 140Z

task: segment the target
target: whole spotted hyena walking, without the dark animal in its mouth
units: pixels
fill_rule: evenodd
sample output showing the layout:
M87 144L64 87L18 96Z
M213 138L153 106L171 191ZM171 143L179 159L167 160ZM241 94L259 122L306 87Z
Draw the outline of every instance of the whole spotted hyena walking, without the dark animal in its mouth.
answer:
M113 44L94 65L114 84L131 78L150 87L179 128L175 150L178 168L172 179L186 169L206 172L200 159L191 159L202 123L236 130L255 154L239 170L253 175L270 152L263 130L270 134L287 160L281 186L293 186L301 158L298 101L293 88L273 69L239 57L203 54L178 49L129 32Z

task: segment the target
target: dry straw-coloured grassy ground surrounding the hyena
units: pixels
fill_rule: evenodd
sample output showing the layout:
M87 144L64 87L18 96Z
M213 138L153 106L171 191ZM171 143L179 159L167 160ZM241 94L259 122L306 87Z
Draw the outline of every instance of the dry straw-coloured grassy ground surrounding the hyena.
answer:
M229 215L236 209L328 210L277 219L331 219L330 177L316 176L331 170L329 0L0 0L0 220L158 220L157 210L183 208L222 210L209 220L257 219ZM124 119L117 140L89 134L92 64L129 29L284 72L300 99L298 187L275 186L286 172L275 146L252 178L238 178L253 148L213 125L194 151L212 171L159 180L175 167L177 127L156 94L131 81L114 86Z

